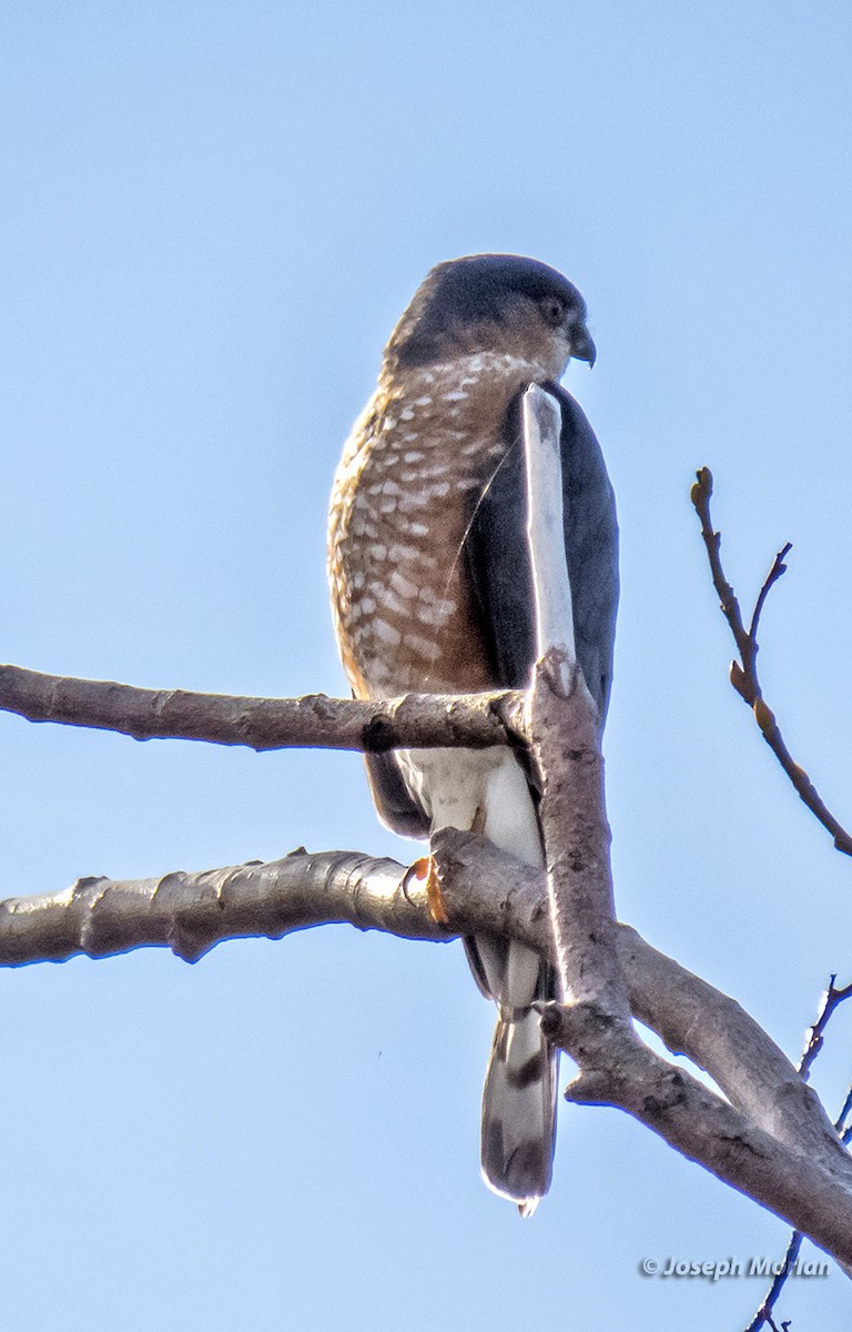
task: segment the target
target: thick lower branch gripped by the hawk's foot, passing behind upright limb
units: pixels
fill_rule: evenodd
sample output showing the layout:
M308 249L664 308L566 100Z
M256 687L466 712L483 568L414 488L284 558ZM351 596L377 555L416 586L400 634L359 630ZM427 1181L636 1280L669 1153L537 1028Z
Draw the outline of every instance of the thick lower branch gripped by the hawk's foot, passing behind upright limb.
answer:
M194 962L226 939L280 939L334 922L406 939L450 939L475 930L522 939L555 956L546 876L471 832L443 829L433 842L449 927L430 914L425 882L395 860L351 851L173 872L160 879L80 879L43 896L0 902L0 964L101 958L169 947ZM738 1108L784 1136L783 1118L816 1116L789 1060L727 995L618 926L618 947L635 1015L674 1051L686 1052ZM777 1108L773 1108L777 1102ZM819 1103L816 1103L819 1104ZM819 1122L819 1120L817 1120ZM791 1143L793 1139L789 1139ZM811 1150L813 1135L797 1146Z

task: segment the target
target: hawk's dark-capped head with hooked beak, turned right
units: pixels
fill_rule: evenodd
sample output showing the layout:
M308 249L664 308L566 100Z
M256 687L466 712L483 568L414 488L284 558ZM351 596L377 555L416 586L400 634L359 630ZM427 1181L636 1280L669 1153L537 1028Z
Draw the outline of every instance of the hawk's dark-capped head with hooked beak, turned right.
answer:
M594 365L586 302L567 278L521 254L469 254L427 273L385 349L387 370L477 352L507 353L558 380L571 357Z

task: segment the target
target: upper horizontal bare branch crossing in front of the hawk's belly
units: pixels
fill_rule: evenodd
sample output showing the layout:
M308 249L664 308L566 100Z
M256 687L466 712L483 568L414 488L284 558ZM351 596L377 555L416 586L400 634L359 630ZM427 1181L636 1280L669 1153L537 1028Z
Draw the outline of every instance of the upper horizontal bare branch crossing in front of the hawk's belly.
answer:
M118 731L137 741L208 741L253 750L322 747L375 754L399 746L511 745L518 742L513 717L522 705L523 694L511 690L367 702L325 694L241 698L0 666L0 711L31 722Z

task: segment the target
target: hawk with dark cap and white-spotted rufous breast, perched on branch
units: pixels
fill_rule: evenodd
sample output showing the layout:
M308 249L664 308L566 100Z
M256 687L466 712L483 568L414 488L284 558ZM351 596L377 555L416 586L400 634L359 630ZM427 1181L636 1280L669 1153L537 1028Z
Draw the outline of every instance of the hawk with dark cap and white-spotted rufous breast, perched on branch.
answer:
M334 480L329 577L341 657L358 698L525 687L535 658L521 397L562 412L564 553L576 653L606 715L618 602L618 527L595 436L556 385L594 362L586 305L554 269L515 254L439 264L385 349L378 386ZM543 864L534 778L509 749L369 755L382 819L407 836L475 829ZM482 1104L482 1169L529 1215L550 1184L558 1054L531 1003L556 995L538 954L466 940L498 1006Z

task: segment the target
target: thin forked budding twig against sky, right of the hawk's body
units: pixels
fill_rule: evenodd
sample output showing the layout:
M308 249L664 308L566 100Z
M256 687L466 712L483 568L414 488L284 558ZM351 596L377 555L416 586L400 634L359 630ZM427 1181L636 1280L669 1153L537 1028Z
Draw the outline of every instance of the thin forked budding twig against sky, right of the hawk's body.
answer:
M788 542L775 557L772 567L769 569L769 573L767 574L763 587L757 595L755 610L751 617L751 626L746 630L739 602L734 589L724 575L724 569L722 567L722 555L719 553L722 546L722 534L714 531L710 517L710 498L714 493L714 478L710 468L702 468L700 472L696 473L696 477L698 481L692 486L691 498L702 523L702 537L704 538L704 545L707 547L707 558L710 561L714 587L719 594L722 614L728 622L728 627L734 634L734 641L736 642L736 647L740 654L739 662L731 662L731 683L740 698L743 698L752 709L755 721L760 727L764 741L787 773L787 777L792 782L799 798L807 805L823 827L831 832L837 851L841 851L844 855L852 855L852 834L849 834L835 818L819 795L808 774L803 767L800 767L799 763L796 763L792 754L787 749L784 738L779 730L779 725L775 719L775 713L763 698L763 690L757 677L756 634L760 623L760 614L769 590L787 567L784 558L791 550L791 545Z

